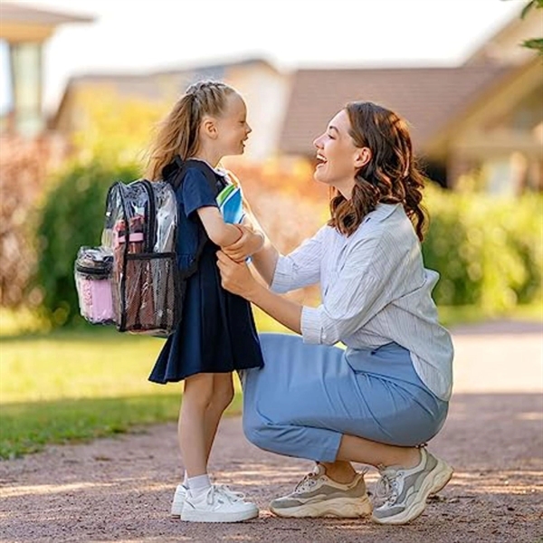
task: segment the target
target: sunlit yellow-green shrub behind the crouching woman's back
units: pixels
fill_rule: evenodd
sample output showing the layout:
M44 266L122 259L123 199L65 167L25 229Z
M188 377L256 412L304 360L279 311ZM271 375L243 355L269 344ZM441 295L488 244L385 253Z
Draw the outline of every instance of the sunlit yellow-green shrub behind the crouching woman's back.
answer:
M537 300L543 279L543 197L455 194L427 187L427 268L439 271L438 305L499 313Z

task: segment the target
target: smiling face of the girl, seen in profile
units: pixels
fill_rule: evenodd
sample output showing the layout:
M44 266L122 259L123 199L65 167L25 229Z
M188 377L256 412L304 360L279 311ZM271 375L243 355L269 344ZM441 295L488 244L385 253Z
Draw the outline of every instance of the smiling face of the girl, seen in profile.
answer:
M239 94L228 96L224 114L216 119L215 126L221 156L243 155L245 141L252 129L247 124L247 108Z

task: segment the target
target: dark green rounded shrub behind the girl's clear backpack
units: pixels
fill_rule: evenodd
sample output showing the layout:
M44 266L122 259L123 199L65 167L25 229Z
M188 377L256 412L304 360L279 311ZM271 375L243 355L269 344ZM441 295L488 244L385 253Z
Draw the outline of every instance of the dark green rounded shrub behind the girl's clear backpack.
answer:
M81 245L100 245L110 185L137 177L135 166L95 160L72 165L52 183L38 216L34 281L42 292L43 317L53 327L81 321L73 262Z

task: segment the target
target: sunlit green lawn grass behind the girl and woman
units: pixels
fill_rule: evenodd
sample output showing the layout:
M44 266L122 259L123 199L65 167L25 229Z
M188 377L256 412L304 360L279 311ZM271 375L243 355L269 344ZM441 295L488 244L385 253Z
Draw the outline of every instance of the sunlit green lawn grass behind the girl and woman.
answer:
M285 331L255 311L258 328ZM520 308L510 319L541 321L541 306ZM477 308L440 308L445 326L484 319ZM175 421L181 384L148 382L164 340L119 334L87 325L40 331L28 313L0 312L0 458ZM241 412L236 395L227 414Z

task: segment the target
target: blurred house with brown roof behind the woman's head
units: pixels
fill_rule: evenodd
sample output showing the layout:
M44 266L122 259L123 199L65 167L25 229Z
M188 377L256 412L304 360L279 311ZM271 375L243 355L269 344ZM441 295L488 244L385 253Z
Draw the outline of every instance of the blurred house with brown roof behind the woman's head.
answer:
M443 186L471 176L495 194L543 190L543 64L520 45L541 33L542 11L515 17L459 67L297 71L281 154L312 160L328 120L349 100L370 100L407 119Z

